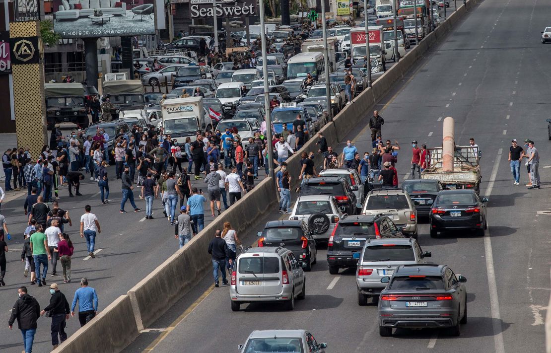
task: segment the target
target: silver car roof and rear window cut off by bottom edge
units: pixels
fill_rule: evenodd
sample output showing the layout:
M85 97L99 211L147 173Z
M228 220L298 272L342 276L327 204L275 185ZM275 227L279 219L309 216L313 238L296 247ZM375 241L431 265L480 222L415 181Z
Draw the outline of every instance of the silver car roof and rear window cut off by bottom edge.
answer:
M325 353L327 343L317 343L307 330L255 330L245 344L237 349L243 352L316 352Z

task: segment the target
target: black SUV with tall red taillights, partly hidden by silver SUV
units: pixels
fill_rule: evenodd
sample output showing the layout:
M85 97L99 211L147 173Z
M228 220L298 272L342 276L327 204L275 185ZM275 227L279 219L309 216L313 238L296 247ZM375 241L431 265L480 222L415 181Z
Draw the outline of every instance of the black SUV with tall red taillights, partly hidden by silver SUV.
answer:
M336 275L339 268L355 267L360 258L361 249L369 237L404 237L388 216L355 215L340 220L327 244L327 264L329 273Z

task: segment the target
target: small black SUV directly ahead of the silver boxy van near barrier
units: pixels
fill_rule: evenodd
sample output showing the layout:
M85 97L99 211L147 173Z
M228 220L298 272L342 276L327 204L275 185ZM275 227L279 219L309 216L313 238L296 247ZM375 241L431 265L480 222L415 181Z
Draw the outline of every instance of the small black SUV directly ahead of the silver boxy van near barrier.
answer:
M316 263L316 241L304 221L269 221L257 235L259 247L284 246L299 262L306 263L302 267L305 271L310 271Z

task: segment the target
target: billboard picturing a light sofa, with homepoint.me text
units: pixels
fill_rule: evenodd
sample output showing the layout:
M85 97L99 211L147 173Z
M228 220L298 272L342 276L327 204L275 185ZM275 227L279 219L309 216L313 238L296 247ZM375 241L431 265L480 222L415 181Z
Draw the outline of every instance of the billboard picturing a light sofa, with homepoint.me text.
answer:
M153 0L53 0L53 10L62 38L155 34Z

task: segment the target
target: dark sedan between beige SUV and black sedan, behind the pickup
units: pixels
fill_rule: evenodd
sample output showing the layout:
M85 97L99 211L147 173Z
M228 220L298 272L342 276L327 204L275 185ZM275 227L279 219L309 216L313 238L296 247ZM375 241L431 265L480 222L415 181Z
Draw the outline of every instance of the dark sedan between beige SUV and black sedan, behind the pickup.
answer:
M412 199L417 216L428 216L436 195L444 190L444 186L439 180L408 179L402 183L402 190Z

